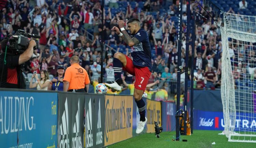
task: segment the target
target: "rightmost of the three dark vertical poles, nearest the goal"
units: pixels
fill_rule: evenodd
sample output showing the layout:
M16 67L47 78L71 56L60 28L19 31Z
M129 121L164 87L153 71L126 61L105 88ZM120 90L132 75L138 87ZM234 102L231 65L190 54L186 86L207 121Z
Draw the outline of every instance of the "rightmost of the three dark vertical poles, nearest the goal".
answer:
M194 54L195 54L195 38L196 38L196 12L193 11L192 24L192 63L191 63L191 92L190 92L190 129L193 134L193 110L194 110Z

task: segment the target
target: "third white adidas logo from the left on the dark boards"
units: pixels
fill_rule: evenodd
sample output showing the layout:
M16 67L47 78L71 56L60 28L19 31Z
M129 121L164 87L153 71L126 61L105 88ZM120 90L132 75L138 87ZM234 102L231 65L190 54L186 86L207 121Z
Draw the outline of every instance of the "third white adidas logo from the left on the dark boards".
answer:
M87 119L87 129L88 129L88 132L87 132L87 136L86 136L86 147L92 147L93 146L93 133L91 132L92 130L92 120L91 120L91 98L90 98L90 101L89 101L89 109L86 113L86 119Z

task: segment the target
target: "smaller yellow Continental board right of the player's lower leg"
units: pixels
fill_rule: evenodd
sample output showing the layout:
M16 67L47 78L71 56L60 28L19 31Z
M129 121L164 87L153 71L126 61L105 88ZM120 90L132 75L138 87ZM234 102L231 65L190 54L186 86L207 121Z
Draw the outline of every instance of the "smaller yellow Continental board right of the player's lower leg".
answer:
M147 133L155 132L155 121L160 127L161 121L161 102L147 99Z

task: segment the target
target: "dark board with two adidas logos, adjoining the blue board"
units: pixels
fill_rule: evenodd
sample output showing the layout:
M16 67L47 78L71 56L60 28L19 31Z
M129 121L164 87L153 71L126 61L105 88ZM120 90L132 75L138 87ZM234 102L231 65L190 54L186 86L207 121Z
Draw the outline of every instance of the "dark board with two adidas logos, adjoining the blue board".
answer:
M84 94L58 93L58 145L82 147L84 136Z

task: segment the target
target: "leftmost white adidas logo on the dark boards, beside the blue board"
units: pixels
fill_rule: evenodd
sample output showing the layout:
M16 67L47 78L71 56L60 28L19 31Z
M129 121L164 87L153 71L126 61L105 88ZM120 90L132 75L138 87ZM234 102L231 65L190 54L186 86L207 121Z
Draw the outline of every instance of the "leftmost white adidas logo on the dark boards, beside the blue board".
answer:
M65 110L61 116L62 123L60 124L60 148L69 148L69 139L68 139L68 131L69 131L69 114L68 114L68 102L67 98L65 101Z

